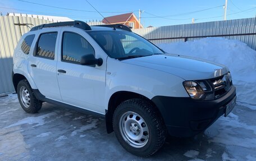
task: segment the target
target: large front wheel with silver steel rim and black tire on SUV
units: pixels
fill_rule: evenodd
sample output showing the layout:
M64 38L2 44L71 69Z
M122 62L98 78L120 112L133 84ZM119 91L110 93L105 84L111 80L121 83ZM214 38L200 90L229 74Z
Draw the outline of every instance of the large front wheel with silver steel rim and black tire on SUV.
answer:
M113 129L122 147L139 157L156 153L167 136L161 114L144 99L129 99L118 105L113 114Z

